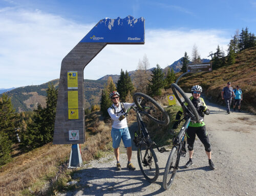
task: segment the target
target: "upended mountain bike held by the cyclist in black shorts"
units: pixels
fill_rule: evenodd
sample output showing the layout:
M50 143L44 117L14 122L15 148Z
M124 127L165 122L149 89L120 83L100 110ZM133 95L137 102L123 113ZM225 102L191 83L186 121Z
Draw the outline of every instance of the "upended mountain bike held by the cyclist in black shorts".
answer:
M185 148L185 134L188 127L188 124L191 120L191 118L196 119L199 121L199 115L198 112L194 106L194 104L191 102L191 100L186 96L184 91L176 84L173 83L171 85L171 88L173 90L173 93L179 103L181 104L182 110L183 110L183 118L178 121L180 123L182 120L185 120L184 125L180 129L180 132L176 137L174 137L173 140L173 148L170 151L170 155L168 157L165 170L164 170L164 176L163 176L163 188L167 190L170 188L170 186L173 184L173 181L176 176L176 172L179 169L179 162L180 157L186 156L186 148Z

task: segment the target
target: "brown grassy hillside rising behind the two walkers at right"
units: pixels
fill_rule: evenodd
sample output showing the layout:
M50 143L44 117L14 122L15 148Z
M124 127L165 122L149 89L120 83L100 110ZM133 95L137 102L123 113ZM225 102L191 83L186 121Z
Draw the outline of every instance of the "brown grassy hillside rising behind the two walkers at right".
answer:
M243 92L242 110L256 114L256 47L238 53L232 66L227 65L212 72L187 74L179 80L178 85L186 92L195 84L201 85L209 100L224 105L221 91L228 81L233 88L240 85Z

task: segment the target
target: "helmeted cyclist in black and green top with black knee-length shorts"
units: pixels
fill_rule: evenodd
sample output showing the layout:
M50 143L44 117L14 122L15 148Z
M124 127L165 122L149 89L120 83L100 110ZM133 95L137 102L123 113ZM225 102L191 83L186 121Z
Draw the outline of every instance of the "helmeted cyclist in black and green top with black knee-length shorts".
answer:
M186 163L185 167L188 168L193 164L193 153L194 153L194 142L196 135L200 139L200 141L203 143L205 148L205 153L208 157L209 167L210 169L215 169L214 163L211 161L211 147L209 142L208 133L206 132L206 127L204 123L204 115L209 115L210 111L208 110L204 99L201 98L201 93L203 89L200 85L195 85L191 88L192 96L189 98L191 102L195 105L198 114L200 116L200 120L196 121L196 119L191 118L191 121L187 127L187 144L188 144L188 152L189 152L189 160ZM186 104L186 103L185 103ZM183 114L182 108L178 113L176 114L176 121L173 125L173 128L176 129L179 125L179 119L181 118Z

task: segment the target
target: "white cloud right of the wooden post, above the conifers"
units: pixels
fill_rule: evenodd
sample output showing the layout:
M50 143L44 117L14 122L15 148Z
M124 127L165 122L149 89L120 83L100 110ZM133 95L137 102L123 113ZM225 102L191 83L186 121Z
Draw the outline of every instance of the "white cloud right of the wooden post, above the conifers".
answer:
M136 70L139 59L144 54L150 61L150 68L159 64L161 68L172 64L184 56L191 56L196 44L201 58L209 58L209 52L216 52L217 46L227 49L228 36L217 30L146 30L145 45L109 45L106 46L84 69L87 79L100 78L106 74L120 74ZM103 69L99 69L102 66ZM103 67L104 66L104 67Z

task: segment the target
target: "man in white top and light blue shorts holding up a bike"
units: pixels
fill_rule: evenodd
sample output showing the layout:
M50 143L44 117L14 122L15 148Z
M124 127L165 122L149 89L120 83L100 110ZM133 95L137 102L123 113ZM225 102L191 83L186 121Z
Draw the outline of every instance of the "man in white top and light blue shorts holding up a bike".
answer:
M113 139L113 148L116 157L116 168L121 170L121 165L119 162L119 145L121 139L123 140L124 147L127 149L127 168L135 170L135 167L131 163L132 159L132 141L130 132L128 129L126 118L123 114L126 112L127 108L131 107L134 103L122 103L119 102L119 93L113 91L110 93L110 98L113 104L108 108L108 113L113 121L111 137Z

